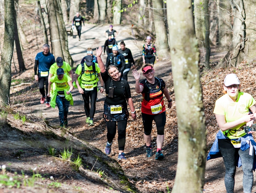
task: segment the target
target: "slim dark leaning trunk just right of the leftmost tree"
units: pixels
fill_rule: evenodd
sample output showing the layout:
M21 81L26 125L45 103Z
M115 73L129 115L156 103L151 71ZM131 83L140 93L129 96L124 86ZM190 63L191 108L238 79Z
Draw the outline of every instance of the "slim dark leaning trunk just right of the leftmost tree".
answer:
M15 15L15 21L14 21L14 29L15 29L15 47L16 47L16 52L17 52L17 58L18 58L18 63L19 63L19 72L22 72L26 70L23 56L22 56L22 50L21 50L21 45L20 45L20 40L19 40L19 34L18 34L18 26L17 26L17 15L16 11L14 13Z

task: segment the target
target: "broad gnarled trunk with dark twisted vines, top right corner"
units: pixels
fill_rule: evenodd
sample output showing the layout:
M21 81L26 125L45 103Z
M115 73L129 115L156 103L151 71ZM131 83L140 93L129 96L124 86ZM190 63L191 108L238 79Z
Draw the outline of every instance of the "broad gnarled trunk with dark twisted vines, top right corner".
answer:
M251 1L232 0L231 7L234 16L231 49L216 68L238 66L242 62L251 63L255 60L256 5Z

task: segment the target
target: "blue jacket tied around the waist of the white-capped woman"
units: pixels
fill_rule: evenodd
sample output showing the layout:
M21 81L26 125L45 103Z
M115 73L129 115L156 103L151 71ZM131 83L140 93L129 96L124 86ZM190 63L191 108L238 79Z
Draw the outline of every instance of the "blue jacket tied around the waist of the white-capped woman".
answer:
M216 135L215 141L212 144L211 150L208 153L207 160L221 157L218 139L228 139L228 137L224 136L224 134L221 132L221 130L219 130L219 132ZM232 139L232 140L241 141L241 150L242 151L245 151L250 147L254 148L253 170L255 171L255 169L256 169L256 143L252 137L252 134L246 134L243 137L240 137L238 139ZM236 165L238 166L238 168L242 166L240 156L239 156L239 159L237 159Z

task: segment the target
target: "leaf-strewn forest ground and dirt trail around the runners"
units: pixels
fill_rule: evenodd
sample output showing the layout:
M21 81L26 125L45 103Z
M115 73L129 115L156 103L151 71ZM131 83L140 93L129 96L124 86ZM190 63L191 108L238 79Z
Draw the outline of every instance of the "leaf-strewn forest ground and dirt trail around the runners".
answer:
M26 9L33 9L27 4L21 5ZM31 14L32 15L32 14ZM32 15L33 16L33 15ZM31 17L32 17L31 16ZM28 14L29 17L29 14ZM142 40L134 40L130 25L113 27L119 31L117 40L125 41L126 47L131 49L136 66L140 71ZM103 46L106 37L103 32L108 25L85 24L82 26L81 41L78 41L76 30L74 36L68 36L69 51L76 65L86 55L86 49L95 50ZM35 30L37 32L35 33ZM1 47L4 25L0 25ZM161 161L155 156L145 156L145 141L143 139L143 125L141 119L141 95L135 92L135 81L128 75L131 95L137 112L137 119L128 120L126 130L125 154L127 160L119 161L117 135L113 141L112 152L105 155L104 149L107 141L105 122L102 118L105 95L98 92L96 113L93 127L85 124L83 100L78 90L72 92L74 106L69 107L68 127L60 128L58 108L46 108L40 104L38 82L34 80L34 59L42 51L43 36L39 27L27 28L25 31L29 44L24 46L24 60L27 70L19 73L17 55L14 54L12 63L12 87L10 91L11 107L2 108L0 113L0 165L6 165L5 182L0 181L0 192L142 192L159 193L171 191L178 160L178 126L176 117L175 91L172 80L171 61L162 60L155 63L156 76L162 78L169 90L173 105L166 110L167 121L165 125L165 141ZM35 36L36 34L36 36ZM212 67L219 62L225 52L213 49L211 52ZM58 56L55 56L55 58ZM106 55L102 56L105 61ZM203 60L203 54L201 54ZM74 65L74 67L76 66ZM204 98L204 111L206 118L207 148L214 142L218 125L213 114L214 104L222 93L222 84L226 74L236 73L241 81L241 90L256 97L256 64L243 63L237 68L227 69L201 69L201 84ZM75 69L74 69L75 71ZM142 77L141 77L142 79ZM21 84L26 83L26 84ZM18 86L17 86L18 85ZM167 104L166 98L165 104ZM25 116L26 121L17 118ZM5 114L7 114L5 116ZM156 153L156 127L152 130L153 153ZM55 156L49 156L49 147L56 149ZM50 149L51 149L50 148ZM73 149L71 161L82 158L82 166L74 169L71 161L63 161L57 155L64 148ZM33 169L35 169L33 171ZM2 178L3 170L0 174ZM23 175L23 173L24 175ZM206 162L205 184L203 192L225 192L224 164L222 158ZM33 175L34 174L34 175ZM42 178L35 177L40 174ZM237 169L235 178L235 193L243 192L242 168ZM34 176L34 181L33 181ZM52 176L52 178L50 178ZM11 181L9 178L12 177ZM256 175L254 173L254 179ZM17 180L17 182L15 181ZM13 183L12 183L13 182ZM15 183L14 183L15 182ZM18 182L21 183L17 188ZM32 183L33 182L33 183ZM252 192L256 192L254 182Z

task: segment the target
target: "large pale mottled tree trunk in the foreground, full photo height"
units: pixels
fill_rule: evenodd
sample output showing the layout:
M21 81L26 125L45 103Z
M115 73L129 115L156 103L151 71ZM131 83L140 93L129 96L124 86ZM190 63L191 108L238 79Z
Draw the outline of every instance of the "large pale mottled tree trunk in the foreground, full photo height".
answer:
M206 130L198 69L198 43L191 4L191 0L176 3L167 1L179 132L178 165L173 193L202 192L204 186Z

